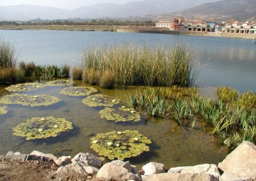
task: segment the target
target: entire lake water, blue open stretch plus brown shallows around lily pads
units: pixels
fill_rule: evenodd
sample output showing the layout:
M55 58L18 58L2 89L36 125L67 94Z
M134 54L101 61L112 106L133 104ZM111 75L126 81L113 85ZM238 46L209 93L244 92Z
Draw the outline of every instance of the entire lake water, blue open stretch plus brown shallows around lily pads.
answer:
M202 86L229 85L239 91L256 90L256 45L253 40L202 38L196 36L173 36L168 34L134 34L108 32L75 31L0 31L0 38L10 41L19 60L34 61L36 64L65 63L73 66L79 63L79 53L83 48L112 46L122 43L134 43L172 47L177 41L186 41L195 50L200 60L200 74L197 83ZM83 84L77 82L79 85ZM88 85L87 85L88 86ZM0 87L0 96L10 94ZM125 101L128 90L99 90L98 93ZM202 163L218 163L227 154L227 148L213 140L209 131L201 131L204 125L197 124L196 129L179 129L170 133L176 125L172 120L146 119L142 115L140 122L115 123L100 119L101 108L90 108L82 103L84 96L74 98L59 94L63 87L45 87L26 94L49 94L61 99L51 106L7 106L8 113L0 115L0 155L9 150L29 153L40 150L56 156L75 156L78 152L93 152L90 138L97 133L109 131L138 130L152 140L150 152L136 158L129 158L132 164L139 166L148 161L164 163L166 168ZM24 92L22 92L24 93ZM74 129L62 133L56 138L26 141L14 136L12 127L32 117L65 117L73 123Z

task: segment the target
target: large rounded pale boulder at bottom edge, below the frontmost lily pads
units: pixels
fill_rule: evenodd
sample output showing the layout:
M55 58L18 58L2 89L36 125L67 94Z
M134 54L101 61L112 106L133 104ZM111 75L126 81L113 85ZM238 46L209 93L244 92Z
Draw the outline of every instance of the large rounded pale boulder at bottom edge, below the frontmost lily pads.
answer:
M106 163L98 171L96 178L99 180L141 180L138 175L129 172L126 168L115 164Z

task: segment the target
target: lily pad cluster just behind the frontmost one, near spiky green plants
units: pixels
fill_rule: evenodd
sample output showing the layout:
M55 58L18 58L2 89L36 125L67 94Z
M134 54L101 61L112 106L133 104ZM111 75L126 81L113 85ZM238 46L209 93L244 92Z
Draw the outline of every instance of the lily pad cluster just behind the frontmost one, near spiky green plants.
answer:
M100 110L100 117L107 120L114 120L115 122L125 122L125 121L139 121L140 113L136 112L133 108L125 108L122 106L120 108L104 108Z

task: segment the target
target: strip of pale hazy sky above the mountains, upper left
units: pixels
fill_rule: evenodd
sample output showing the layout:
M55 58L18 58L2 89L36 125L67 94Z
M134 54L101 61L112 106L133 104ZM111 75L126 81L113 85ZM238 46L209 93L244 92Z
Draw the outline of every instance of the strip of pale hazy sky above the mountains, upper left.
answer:
M91 6L99 3L125 4L130 1L143 0L0 0L0 6L31 4L36 6L49 6L54 8L74 10L75 8L80 8L81 6Z

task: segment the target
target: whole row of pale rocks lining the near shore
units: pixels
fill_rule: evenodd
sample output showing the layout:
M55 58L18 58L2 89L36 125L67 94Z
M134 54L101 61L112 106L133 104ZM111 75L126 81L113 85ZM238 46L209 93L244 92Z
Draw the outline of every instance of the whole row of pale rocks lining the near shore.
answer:
M54 162L60 166L57 177L65 177L70 173L84 175L96 180L256 180L256 146L244 141L231 152L221 163L182 166L164 170L164 164L150 162L142 170L129 161L111 161L103 165L102 161L89 153L79 153L74 158L70 156L54 157L33 151L29 155L19 152L8 152L1 158L20 159L22 161L42 160Z

